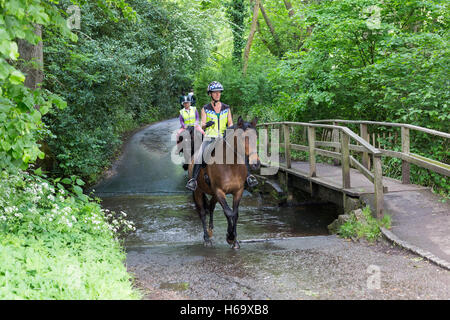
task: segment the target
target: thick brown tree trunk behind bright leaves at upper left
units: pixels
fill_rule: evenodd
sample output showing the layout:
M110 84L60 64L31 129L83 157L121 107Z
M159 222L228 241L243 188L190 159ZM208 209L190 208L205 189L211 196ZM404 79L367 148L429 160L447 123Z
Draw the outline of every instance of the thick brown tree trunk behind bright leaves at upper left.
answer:
M42 26L35 25L34 33L42 39ZM34 90L38 87L38 84L44 81L44 47L42 41L33 45L26 40L19 39L17 45L20 59L24 61L20 70L26 76L25 86Z

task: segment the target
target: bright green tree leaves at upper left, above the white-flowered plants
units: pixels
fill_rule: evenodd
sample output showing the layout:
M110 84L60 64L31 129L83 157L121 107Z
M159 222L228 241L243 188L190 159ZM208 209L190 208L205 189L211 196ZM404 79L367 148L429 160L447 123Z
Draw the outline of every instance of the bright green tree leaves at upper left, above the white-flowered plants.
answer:
M85 3L86 1L81 1ZM97 1L106 11L118 7L132 18L133 11L123 0ZM18 39L37 44L41 39L34 25L54 28L64 37L76 40L58 8L37 0L9 0L0 4L0 165L25 169L37 157L43 158L38 139L46 129L41 118L56 105L65 106L58 96L46 90L30 90L24 86L25 75L19 70Z

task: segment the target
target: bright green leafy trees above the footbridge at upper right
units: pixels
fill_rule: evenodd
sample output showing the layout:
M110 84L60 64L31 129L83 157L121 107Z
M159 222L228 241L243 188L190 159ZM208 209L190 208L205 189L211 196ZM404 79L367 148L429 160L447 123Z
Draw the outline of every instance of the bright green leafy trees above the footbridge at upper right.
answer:
M304 51L287 55L272 76L278 87L296 83L288 87L291 90L280 90L280 112L291 119L398 119L442 129L449 114L448 86L442 83L448 39L445 25L434 22L442 14L440 7L421 3L432 13L427 17L417 12L415 23L428 24L416 33L406 28L405 23L412 22L402 16L408 6L415 12L416 1L403 4L398 12L393 11L393 1L380 5L381 23L375 29L364 14L376 4L373 1L312 6L306 21L314 32ZM441 119L433 112L436 106L447 111L439 113ZM420 119L412 116L418 109L423 113Z

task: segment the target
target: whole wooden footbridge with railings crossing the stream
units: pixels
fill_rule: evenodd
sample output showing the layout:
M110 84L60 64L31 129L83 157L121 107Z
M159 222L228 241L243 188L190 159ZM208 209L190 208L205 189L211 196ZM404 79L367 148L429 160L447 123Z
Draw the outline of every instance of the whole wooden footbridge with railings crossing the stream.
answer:
M445 177L450 175L450 165L410 151L411 132L415 132L428 135L436 144L442 143L448 154L449 133L403 123L350 120L271 122L258 126L269 134L269 129L279 129L283 136L283 141L269 143L268 136L260 133L260 145L264 141L269 154L274 146L281 151L280 161L263 158L263 166L278 167L286 179L295 177L296 184L313 196L320 197L323 188L342 194L340 204L344 210L349 199L369 195L373 196L376 216L381 218L385 193L423 189L410 183L410 164ZM319 157L333 160L318 163ZM401 181L383 176L382 157L401 161Z

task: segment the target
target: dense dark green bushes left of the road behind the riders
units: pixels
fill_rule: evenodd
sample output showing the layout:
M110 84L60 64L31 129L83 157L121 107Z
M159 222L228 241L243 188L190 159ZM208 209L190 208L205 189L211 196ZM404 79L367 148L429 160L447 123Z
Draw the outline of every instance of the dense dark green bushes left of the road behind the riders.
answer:
M45 31L44 86L68 102L44 119L55 134L48 140L54 174L94 182L124 132L176 115L180 90L207 60L205 26L194 23L198 11L169 1L129 3L136 23L118 18L113 24L86 4L76 44ZM68 4L62 1L61 9Z

